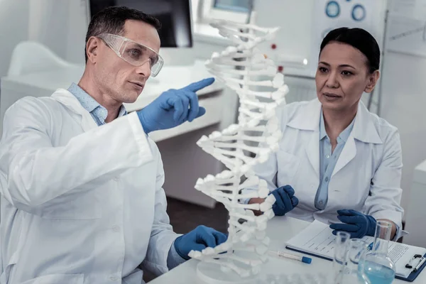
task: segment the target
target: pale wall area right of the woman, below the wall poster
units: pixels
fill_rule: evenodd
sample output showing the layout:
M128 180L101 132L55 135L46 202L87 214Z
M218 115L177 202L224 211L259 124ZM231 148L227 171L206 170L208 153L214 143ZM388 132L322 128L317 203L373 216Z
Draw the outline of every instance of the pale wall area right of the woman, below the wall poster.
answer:
M403 147L403 207L408 208L413 170L426 159L426 58L386 53L381 116L398 127Z

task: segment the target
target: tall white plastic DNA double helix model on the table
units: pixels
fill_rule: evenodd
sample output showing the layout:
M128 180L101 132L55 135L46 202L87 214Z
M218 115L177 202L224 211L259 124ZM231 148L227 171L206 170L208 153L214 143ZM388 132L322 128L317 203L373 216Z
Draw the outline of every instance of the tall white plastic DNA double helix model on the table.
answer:
M197 190L222 202L229 210L228 240L214 249L191 251L190 257L202 261L197 266L197 274L204 280L209 283L226 280L229 283L232 278L240 281L256 275L261 271L261 264L268 260L269 239L265 230L268 219L274 216L275 197L268 195L266 181L259 180L251 168L266 162L269 155L278 150L281 132L275 108L285 103L288 87L273 60L267 59L256 48L258 43L273 38L278 28L260 28L253 22L218 21L211 25L236 46L229 46L220 54L213 53L206 66L236 91L241 107L238 124L232 124L222 132L214 131L209 137L202 136L197 142L229 169L216 176L207 175L195 185ZM268 92L260 89L266 87L270 89ZM241 194L244 188L256 190ZM266 200L262 204L239 202L243 198L255 197ZM255 216L252 210L260 210L263 214ZM241 224L241 220L245 222ZM217 271L213 273L214 269ZM219 277L220 273L223 277Z

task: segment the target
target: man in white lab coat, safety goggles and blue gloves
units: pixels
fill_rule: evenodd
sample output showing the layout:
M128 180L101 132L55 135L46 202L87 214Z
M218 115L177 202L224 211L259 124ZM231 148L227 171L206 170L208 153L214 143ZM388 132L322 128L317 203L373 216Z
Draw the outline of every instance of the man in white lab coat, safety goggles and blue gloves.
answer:
M166 213L163 164L147 133L204 114L197 90L169 90L126 113L156 75L160 23L112 7L92 18L79 84L6 111L0 143L0 283L141 283L191 250L226 235L199 226L175 234ZM185 161L182 161L185 163Z

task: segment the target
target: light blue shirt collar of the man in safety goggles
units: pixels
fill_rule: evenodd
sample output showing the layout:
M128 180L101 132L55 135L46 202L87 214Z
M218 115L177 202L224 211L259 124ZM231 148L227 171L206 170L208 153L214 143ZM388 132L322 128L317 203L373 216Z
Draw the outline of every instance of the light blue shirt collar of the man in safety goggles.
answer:
M84 91L79 85L72 83L68 88L68 91L74 95L87 111L92 114L96 123L100 126L105 124L105 119L107 119L108 111L102 107L99 102L97 102L93 97L91 97L87 92ZM119 117L127 114L126 108L122 105L119 111Z

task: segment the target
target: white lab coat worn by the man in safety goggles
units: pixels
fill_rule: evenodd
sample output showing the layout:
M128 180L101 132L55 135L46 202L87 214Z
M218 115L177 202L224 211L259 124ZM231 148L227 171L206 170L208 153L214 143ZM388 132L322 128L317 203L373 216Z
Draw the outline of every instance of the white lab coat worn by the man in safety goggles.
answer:
M97 126L67 90L6 111L1 284L140 284L178 236L158 148L131 113Z

